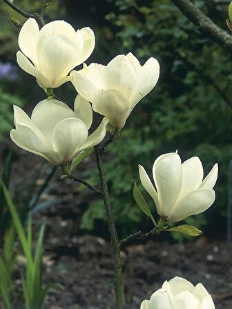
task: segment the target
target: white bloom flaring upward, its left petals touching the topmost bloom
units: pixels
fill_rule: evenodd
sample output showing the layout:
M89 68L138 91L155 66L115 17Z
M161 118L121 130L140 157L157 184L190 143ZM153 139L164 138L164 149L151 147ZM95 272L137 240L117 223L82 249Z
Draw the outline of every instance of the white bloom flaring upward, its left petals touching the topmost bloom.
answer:
M93 103L93 110L109 117L110 124L122 128L135 105L156 85L160 65L150 58L144 66L131 52L120 54L107 66L91 63L71 72L77 92Z

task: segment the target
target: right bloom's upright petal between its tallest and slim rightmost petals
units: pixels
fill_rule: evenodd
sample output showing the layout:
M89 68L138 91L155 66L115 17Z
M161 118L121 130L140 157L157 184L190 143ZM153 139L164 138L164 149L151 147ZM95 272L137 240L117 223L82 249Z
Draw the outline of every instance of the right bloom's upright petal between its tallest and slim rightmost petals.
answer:
M182 163L182 190L179 199L199 188L203 179L203 166L198 157L192 157Z

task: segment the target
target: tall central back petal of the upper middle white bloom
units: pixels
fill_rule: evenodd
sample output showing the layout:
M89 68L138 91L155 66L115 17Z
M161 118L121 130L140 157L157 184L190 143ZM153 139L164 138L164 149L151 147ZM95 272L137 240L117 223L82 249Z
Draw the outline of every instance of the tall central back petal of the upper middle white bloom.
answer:
M122 92L130 99L137 81L137 70L131 61L124 55L112 59L106 66L105 84L107 89Z

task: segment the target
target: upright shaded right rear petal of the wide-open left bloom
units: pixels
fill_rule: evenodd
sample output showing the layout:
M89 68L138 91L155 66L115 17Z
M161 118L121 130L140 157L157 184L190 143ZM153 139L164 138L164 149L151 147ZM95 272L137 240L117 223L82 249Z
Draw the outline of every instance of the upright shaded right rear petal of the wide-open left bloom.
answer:
M87 128L90 128L93 121L93 110L90 103L79 94L74 102L74 117L81 119L86 123Z

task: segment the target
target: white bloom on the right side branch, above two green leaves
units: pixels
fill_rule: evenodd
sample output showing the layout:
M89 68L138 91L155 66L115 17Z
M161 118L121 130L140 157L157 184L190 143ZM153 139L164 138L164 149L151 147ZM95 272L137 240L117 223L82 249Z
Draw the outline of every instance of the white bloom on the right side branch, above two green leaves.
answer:
M158 214L175 222L197 215L212 205L218 164L202 181L203 167L198 157L181 163L177 152L171 152L158 157L153 165L156 190L142 166L139 166L139 177L142 186L155 201Z

